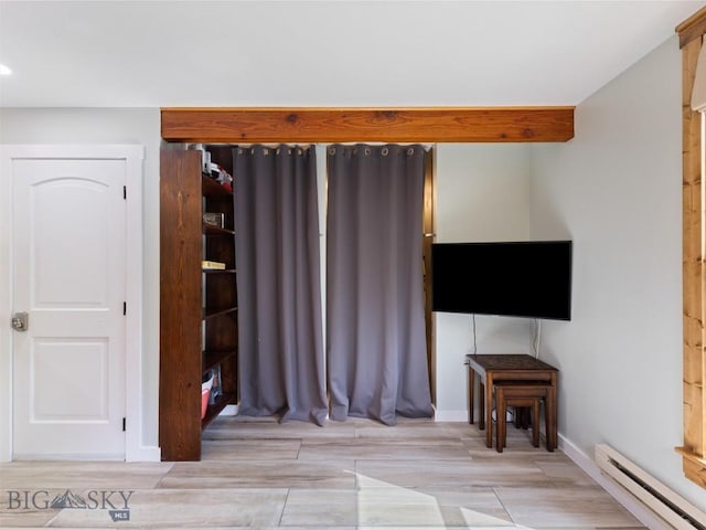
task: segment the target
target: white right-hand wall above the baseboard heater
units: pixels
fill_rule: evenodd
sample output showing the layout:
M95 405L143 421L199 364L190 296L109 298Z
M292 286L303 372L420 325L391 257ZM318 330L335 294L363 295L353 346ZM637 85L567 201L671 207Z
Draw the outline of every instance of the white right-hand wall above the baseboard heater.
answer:
M681 53L676 38L581 103L576 137L532 150L532 234L574 240L570 322L543 327L559 432L608 443L702 509L683 478Z

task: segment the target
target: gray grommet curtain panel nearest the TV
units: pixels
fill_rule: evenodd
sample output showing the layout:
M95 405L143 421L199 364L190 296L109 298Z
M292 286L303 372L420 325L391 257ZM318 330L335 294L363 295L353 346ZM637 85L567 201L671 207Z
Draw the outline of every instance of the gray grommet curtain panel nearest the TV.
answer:
M422 284L421 146L329 148L331 418L432 415Z

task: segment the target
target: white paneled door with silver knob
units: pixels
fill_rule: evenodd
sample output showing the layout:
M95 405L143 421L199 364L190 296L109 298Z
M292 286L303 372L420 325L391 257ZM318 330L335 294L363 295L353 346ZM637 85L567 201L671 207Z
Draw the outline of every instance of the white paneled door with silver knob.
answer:
M125 458L125 160L12 166L13 458Z

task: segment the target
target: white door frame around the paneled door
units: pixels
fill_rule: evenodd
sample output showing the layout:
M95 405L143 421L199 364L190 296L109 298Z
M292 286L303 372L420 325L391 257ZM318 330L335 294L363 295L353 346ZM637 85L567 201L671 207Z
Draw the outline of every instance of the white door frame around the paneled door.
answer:
M12 458L12 161L125 160L127 187L126 460L159 460L142 445L142 161L139 145L0 145L0 462ZM157 452L159 453L159 452Z

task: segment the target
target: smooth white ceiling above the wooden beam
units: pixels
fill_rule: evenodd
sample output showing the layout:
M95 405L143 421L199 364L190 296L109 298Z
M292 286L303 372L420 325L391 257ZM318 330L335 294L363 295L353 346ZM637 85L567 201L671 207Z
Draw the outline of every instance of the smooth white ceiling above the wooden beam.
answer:
M704 6L0 0L0 106L576 105Z

